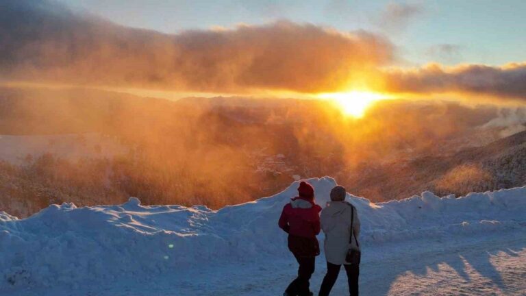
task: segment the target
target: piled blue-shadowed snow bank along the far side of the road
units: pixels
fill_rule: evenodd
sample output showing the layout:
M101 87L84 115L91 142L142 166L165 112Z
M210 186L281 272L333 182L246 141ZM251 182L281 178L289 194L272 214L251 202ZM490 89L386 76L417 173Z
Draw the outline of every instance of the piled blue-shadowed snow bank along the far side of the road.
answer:
M315 188L316 202L325 206L334 179L308 182ZM286 256L286 234L277 227L277 219L298 184L273 197L218 211L205 206L141 206L131 198L119 206L53 205L27 219L0 212L0 290L121 276L147 280L198 262ZM360 213L360 240L366 247L526 225L526 187L458 199L429 192L381 204L349 194L347 199Z

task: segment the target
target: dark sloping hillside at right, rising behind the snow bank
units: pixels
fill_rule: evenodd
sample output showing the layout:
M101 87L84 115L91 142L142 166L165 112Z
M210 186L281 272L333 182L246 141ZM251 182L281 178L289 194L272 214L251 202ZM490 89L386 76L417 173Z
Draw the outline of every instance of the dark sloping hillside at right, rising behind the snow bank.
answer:
M460 196L524 186L526 132L451 156L421 156L358 169L345 182L351 192L380 200L408 197L423 190Z

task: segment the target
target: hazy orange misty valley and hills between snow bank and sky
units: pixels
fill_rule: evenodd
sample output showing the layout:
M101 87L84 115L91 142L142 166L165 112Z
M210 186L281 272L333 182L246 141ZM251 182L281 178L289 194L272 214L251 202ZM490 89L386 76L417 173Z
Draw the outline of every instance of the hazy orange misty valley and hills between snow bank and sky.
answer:
M356 120L319 100L0 88L0 209L129 196L221 208L324 175L373 201L520 186L523 133L501 138L524 127L501 116L390 100Z

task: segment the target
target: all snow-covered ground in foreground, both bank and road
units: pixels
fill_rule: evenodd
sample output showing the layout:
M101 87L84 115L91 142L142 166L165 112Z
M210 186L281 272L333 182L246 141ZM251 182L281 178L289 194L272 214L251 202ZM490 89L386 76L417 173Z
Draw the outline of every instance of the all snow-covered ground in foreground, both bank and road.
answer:
M325 206L336 182L308 182ZM297 186L218 211L130 199L50 206L22 220L3 213L0 295L281 295L297 267L277 218ZM362 295L526 295L526 187L347 199L362 221ZM345 289L342 272L333 294Z

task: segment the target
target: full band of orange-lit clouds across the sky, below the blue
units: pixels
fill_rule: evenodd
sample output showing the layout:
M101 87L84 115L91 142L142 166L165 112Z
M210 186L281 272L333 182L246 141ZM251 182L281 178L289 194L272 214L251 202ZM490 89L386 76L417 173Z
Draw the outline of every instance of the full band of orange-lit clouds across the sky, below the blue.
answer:
M526 99L524 62L401 68L392 36L377 32L273 21L165 34L58 3L55 10L21 3L29 7L0 12L0 79L8 84L90 86L171 99L353 91L474 103Z

